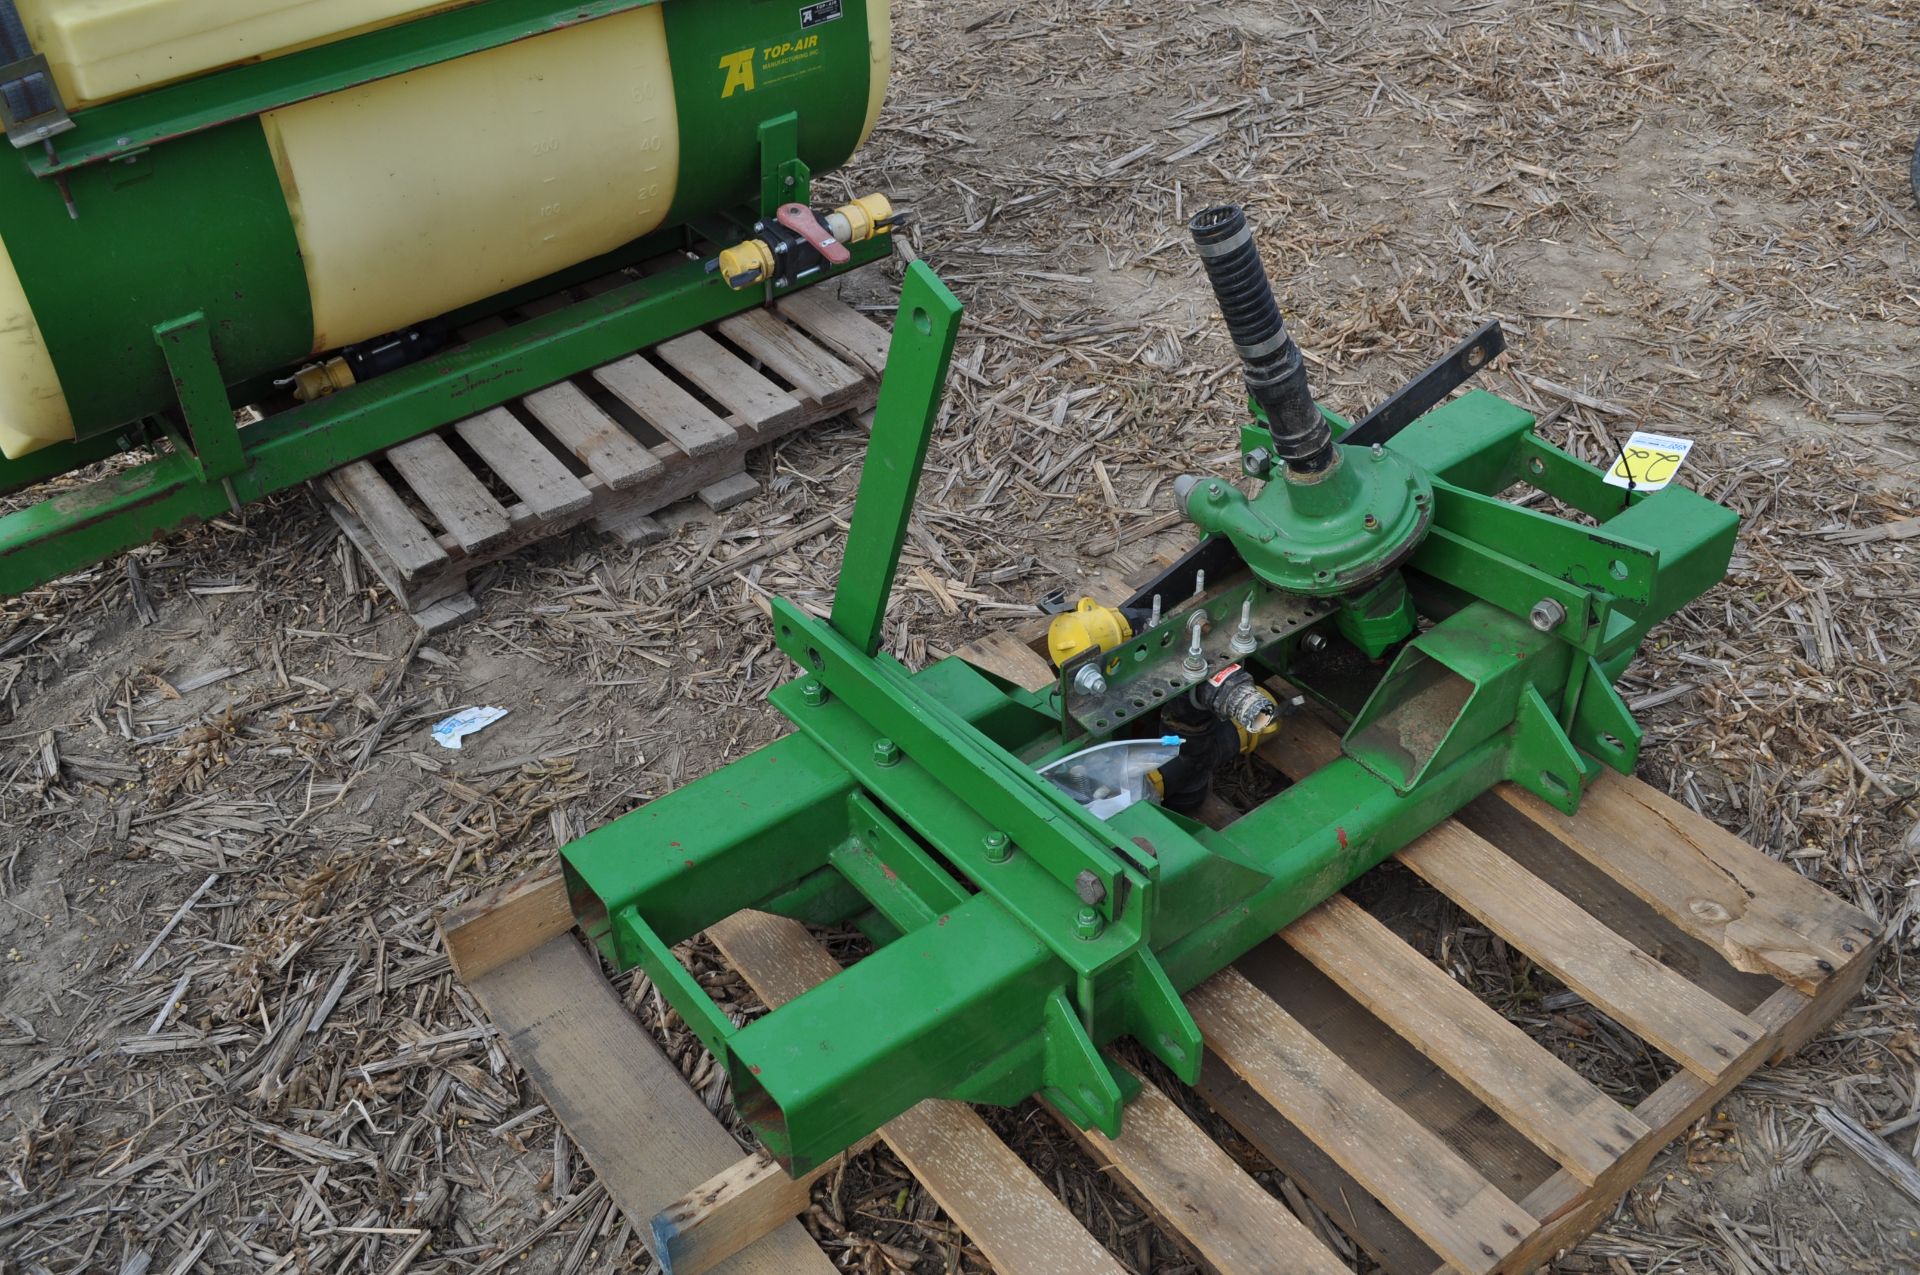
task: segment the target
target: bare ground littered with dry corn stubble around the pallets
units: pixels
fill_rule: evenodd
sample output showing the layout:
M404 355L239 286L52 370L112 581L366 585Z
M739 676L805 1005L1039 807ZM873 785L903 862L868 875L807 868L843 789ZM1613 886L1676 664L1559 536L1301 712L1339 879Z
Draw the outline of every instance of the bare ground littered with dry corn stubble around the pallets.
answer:
M1697 438L1686 478L1745 518L1728 582L1628 676L1642 772L1891 935L1859 1004L1557 1269L1914 1269L1920 1202L1834 1129L1920 1141L1920 10L899 8L879 131L824 192L910 204L968 330L889 645L935 659L1177 541L1171 478L1225 472L1238 417L1198 207L1248 205L1336 409L1503 319L1488 388L1563 409L1549 434L1590 459L1636 426ZM0 603L0 1263L645 1269L432 920L778 734L764 599L824 605L839 532L682 586L845 518L860 447L837 422L758 455L760 499L664 545L488 568L480 616L426 643L303 493ZM472 703L513 712L434 747ZM1415 920L1613 1093L1657 1083L1469 920ZM620 987L726 1112L657 993ZM1194 1269L1044 1116L993 1119L1123 1263ZM981 1267L885 1152L806 1225L849 1269Z

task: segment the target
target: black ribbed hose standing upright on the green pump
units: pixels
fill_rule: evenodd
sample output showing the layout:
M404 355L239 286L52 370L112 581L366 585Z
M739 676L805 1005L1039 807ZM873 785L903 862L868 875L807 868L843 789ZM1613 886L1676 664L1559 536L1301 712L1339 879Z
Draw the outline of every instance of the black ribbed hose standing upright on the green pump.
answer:
M1190 229L1219 313L1246 365L1246 388L1267 413L1273 449L1294 472L1325 470L1334 459L1332 430L1313 405L1300 346L1286 334L1281 307L1273 301L1246 213L1236 204L1221 204L1202 209Z

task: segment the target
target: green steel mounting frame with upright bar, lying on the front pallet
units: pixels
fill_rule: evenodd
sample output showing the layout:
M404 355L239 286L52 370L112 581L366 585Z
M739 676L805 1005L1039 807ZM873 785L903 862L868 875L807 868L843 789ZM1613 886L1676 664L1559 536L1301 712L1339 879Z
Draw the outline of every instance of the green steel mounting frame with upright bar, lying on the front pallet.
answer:
M1342 757L1225 830L1150 803L1098 820L1035 772L1114 734L1077 724L1066 676L1025 691L960 659L908 672L879 651L958 321L912 265L831 616L774 603L774 639L801 670L772 693L793 734L563 851L586 933L653 977L791 1171L929 1096L1043 1093L1117 1135L1129 1085L1114 1041L1196 1079L1185 991L1501 780L1572 810L1603 766L1630 770L1640 730L1613 680L1651 624L1724 574L1738 522L1682 488L1611 488L1536 438L1532 415L1469 392L1384 455L1342 457L1404 467L1430 493L1430 530L1396 568L1421 628L1357 712L1317 686L1309 651L1340 641L1344 607L1365 599L1315 601L1244 655L1227 645L1236 613L1202 626L1213 668L1233 659L1348 705ZM1252 472L1273 436L1256 422L1244 442ZM1246 499L1200 482L1219 484L1217 507ZM1515 484L1580 520L1498 499ZM1271 589L1258 553L1246 561L1254 591ZM1190 597L1102 653L1108 684L1140 703L1165 693L1144 670L1165 670L1208 605ZM851 922L876 949L735 1025L674 945L739 908Z

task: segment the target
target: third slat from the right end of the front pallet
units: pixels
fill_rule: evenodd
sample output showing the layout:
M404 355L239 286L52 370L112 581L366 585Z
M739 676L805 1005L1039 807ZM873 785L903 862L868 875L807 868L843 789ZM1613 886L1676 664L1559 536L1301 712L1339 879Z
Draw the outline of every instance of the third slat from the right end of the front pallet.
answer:
M1346 895L1281 937L1586 1185L1651 1131Z

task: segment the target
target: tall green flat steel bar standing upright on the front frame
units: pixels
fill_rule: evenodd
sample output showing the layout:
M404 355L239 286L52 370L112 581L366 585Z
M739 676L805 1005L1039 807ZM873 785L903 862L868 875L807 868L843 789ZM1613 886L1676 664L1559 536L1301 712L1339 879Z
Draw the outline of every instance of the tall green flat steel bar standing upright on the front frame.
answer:
M941 415L947 367L960 334L960 301L924 261L906 267L874 409L874 440L852 503L852 528L833 591L833 628L862 655L879 649L893 574L900 568L927 440Z

